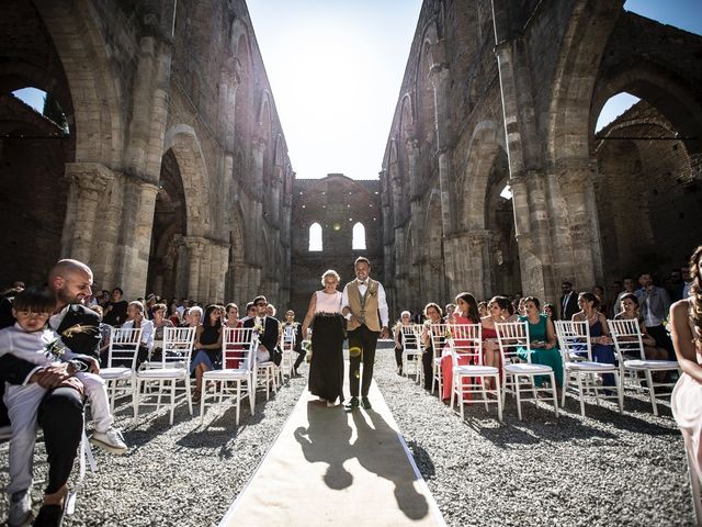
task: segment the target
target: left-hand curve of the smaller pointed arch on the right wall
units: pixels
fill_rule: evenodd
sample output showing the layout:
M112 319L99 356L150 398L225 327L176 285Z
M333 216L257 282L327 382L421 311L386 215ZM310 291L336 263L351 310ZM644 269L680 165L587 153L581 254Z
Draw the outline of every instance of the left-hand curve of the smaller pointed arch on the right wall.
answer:
M475 126L468 146L468 161L458 180L464 205L461 220L465 229L485 228L490 169L495 158L505 152L505 134L497 123L482 121Z

